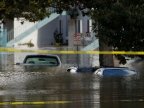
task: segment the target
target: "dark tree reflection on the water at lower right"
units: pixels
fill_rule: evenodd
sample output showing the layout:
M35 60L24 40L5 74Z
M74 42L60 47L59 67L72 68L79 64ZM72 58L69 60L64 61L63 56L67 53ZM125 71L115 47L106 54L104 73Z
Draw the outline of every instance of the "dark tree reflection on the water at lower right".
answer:
M105 78L100 81L101 108L143 108L144 79Z

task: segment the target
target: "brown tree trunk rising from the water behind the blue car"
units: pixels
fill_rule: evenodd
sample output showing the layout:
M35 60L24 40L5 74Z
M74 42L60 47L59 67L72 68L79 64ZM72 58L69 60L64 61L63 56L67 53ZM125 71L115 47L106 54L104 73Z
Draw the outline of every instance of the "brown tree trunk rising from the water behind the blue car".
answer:
M107 40L103 37L99 37L99 51L112 51L112 47L108 46ZM100 54L99 63L101 67L114 66L113 55L112 54Z

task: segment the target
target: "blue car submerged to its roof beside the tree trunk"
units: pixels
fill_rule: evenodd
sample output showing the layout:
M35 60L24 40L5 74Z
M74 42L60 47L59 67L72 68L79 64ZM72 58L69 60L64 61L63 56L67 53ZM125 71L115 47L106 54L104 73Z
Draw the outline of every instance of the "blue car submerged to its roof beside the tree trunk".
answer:
M97 74L102 77L124 77L124 76L132 76L136 75L137 72L135 70L131 70L129 68L99 68L97 69L94 74Z

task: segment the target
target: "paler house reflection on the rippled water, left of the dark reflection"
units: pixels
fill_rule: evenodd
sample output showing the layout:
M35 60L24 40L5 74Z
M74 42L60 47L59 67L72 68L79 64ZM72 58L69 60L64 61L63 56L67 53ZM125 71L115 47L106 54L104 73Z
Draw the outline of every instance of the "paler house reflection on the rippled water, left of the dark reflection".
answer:
M99 106L99 83L92 75L49 74L49 72L0 73L0 101L71 101L53 107ZM95 85L94 85L95 82ZM94 103L94 100L97 103ZM35 105L34 105L35 106ZM27 106L34 108L32 106ZM19 108L19 105L18 105Z

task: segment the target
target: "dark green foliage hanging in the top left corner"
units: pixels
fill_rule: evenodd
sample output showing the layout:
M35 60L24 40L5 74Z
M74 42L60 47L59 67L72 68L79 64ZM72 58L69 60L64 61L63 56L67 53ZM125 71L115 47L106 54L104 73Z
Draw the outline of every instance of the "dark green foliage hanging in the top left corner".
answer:
M24 17L30 21L42 20L49 16L47 11L50 0L2 0L0 1L0 19Z

